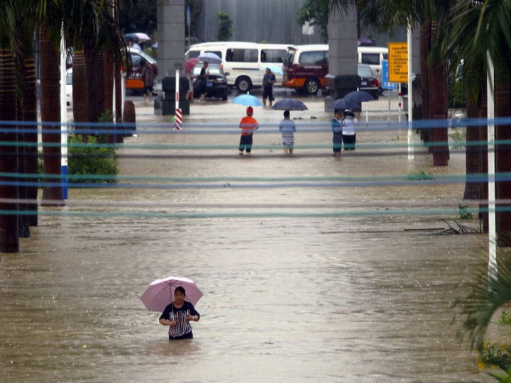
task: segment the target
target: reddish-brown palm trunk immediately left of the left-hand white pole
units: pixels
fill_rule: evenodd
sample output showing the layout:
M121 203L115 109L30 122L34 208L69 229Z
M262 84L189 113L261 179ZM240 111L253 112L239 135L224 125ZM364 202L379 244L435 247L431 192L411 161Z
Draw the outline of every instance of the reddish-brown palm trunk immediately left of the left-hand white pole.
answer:
M39 34L40 52L40 83L41 83L41 121L43 121L43 165L45 178L43 182L43 205L62 206L65 204L62 195L61 156L60 148L60 72L59 52L48 39L45 30ZM45 123L55 123L47 125ZM47 145L50 146L47 146Z

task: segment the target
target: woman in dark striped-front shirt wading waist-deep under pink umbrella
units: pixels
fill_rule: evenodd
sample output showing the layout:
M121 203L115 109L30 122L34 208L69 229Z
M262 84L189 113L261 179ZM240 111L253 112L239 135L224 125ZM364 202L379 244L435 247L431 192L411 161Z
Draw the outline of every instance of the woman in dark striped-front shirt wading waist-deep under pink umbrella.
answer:
M169 340L192 339L192 326L190 322L197 322L200 314L193 304L185 301L186 292L181 286L176 287L174 301L165 307L160 316L160 323L169 326Z

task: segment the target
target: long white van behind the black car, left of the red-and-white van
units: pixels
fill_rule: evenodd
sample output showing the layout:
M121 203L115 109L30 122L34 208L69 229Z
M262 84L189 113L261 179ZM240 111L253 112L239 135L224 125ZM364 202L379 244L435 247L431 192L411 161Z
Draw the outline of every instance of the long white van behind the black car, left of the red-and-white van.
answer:
M216 41L192 45L185 53L185 60L213 52L222 59L224 72L229 72L227 82L239 91L260 87L266 67L278 68L283 72L288 44L257 44L241 41ZM276 84L282 82L282 74L273 71Z

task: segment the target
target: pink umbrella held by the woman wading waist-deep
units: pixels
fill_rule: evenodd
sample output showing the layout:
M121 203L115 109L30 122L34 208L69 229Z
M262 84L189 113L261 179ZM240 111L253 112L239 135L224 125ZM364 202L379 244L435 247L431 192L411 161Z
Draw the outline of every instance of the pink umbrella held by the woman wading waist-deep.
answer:
M167 277L152 282L142 294L141 301L149 311L162 312L167 305L174 301L174 291L178 286L185 289L185 301L189 301L194 306L203 295L192 279Z

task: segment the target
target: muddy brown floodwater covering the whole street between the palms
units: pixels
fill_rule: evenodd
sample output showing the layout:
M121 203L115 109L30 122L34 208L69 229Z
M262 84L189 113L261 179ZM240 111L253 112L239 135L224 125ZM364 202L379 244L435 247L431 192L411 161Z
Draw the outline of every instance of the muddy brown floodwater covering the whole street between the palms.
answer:
M464 174L463 151L433 167L424 148L383 155L405 131L361 130L339 161L331 113L304 102L294 157L279 145L282 111L255 109L246 157L243 106L193 104L168 134L153 124L168 116L136 104L123 187L70 189L64 208L40 208L20 253L0 255L0 381L492 382L456 343L451 308L488 238L436 235L464 184L397 184ZM169 343L139 299L168 275L204 292L193 340Z

